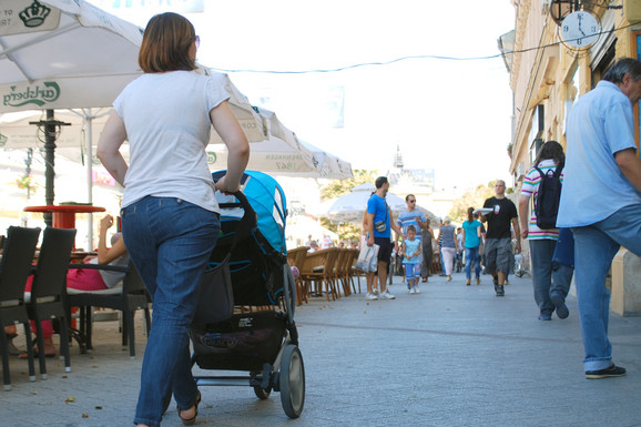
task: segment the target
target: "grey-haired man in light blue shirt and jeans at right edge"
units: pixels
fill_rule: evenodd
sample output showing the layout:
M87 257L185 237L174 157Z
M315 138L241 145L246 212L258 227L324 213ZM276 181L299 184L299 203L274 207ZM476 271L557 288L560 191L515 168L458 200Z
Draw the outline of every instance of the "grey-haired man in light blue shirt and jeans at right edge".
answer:
M612 260L623 245L641 256L641 160L632 106L641 96L641 62L621 59L569 115L557 226L574 234L574 276L586 378L625 375L608 339Z

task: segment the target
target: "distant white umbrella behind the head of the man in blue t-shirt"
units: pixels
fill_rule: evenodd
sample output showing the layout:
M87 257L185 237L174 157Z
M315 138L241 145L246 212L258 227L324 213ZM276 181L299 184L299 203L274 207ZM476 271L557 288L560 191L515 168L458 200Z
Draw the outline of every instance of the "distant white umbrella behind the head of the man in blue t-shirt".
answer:
M317 214L334 222L349 222L360 225L363 224L363 215L367 210L367 201L374 191L376 191L376 186L370 182L357 185L347 194L320 203ZM395 221L398 218L398 214L407 209L405 199L394 193L387 193L385 200L391 209ZM435 215L425 207L416 207L430 221L435 220Z

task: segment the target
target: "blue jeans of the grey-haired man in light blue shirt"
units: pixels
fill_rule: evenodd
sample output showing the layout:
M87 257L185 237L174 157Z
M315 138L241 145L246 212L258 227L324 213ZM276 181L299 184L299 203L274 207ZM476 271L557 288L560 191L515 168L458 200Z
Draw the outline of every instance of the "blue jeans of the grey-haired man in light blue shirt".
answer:
M641 256L640 212L641 204L633 204L598 223L572 228L584 370L604 369L612 364L612 346L608 339L610 291L604 283L621 245Z

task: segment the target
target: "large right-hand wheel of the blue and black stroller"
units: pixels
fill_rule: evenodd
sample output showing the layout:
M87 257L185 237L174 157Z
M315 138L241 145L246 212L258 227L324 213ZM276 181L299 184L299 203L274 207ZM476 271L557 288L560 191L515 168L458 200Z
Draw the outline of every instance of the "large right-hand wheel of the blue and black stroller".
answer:
M298 418L305 405L305 366L297 346L288 344L281 359L278 375L281 401L289 418Z

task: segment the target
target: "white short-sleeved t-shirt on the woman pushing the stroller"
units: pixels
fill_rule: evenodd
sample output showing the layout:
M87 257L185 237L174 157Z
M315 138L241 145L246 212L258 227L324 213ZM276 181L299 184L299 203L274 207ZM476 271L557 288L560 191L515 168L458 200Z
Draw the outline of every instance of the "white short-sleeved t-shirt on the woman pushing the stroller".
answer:
M114 101L124 121L130 164L122 207L147 195L179 197L218 212L205 148L210 111L230 98L221 74L146 73Z

